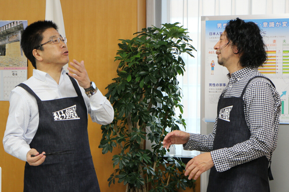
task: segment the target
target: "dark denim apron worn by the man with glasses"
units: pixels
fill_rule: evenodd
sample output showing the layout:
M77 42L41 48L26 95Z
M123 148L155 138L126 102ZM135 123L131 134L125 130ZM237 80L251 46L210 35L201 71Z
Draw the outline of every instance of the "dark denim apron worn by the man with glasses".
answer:
M27 85L18 85L38 105L39 125L30 148L39 153L72 150L48 155L38 166L26 162L24 191L100 191L88 142L87 108L77 82L69 78L77 97L41 101Z

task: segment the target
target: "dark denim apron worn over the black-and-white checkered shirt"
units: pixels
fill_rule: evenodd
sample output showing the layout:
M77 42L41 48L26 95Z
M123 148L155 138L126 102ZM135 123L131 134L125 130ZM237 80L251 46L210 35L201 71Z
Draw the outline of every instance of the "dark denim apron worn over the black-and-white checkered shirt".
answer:
M251 78L243 89L240 97L223 98L221 95L218 101L218 123L213 142L213 150L229 148L235 144L249 140L251 132L248 129L245 119L243 95L248 84L254 78L265 77L255 76ZM247 163L234 166L224 172L217 172L214 166L210 170L207 192L270 191L268 176L271 180L272 174L271 170L268 169L268 165L268 159L262 156Z

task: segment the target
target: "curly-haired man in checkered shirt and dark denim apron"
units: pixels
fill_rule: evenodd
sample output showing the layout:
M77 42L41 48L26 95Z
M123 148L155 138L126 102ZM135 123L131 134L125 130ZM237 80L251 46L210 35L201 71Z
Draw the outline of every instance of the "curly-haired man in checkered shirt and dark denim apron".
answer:
M229 83L218 101L213 132L173 131L164 138L167 149L183 144L185 150L206 152L188 162L185 175L197 179L210 169L207 191L270 191L281 100L271 80L258 72L267 60L265 48L254 22L230 20L214 46Z

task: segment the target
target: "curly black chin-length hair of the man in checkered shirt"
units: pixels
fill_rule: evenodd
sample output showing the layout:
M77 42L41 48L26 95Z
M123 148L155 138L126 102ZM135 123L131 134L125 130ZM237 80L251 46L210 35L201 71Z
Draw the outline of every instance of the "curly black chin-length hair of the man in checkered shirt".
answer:
M227 22L225 31L229 42L237 46L238 52L235 54L240 54L242 67L260 67L267 61L266 45L259 27L254 22L236 18Z

